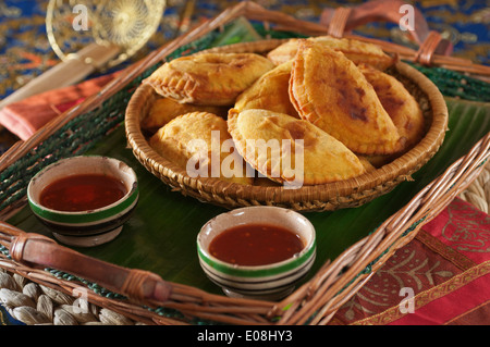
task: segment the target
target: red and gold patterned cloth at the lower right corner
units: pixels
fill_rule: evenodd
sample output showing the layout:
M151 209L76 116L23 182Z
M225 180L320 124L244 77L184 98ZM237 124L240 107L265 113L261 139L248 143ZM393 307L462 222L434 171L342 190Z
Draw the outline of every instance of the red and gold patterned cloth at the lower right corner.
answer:
M455 199L330 324L488 325L489 288L490 216Z

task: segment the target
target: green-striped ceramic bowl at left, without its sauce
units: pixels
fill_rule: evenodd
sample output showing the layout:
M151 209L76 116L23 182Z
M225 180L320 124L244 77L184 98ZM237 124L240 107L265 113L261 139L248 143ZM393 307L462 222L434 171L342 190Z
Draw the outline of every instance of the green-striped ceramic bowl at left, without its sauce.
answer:
M42 189L71 175L103 174L119 178L126 194L108 206L87 211L58 211L40 203ZM70 246L90 247L108 243L122 231L138 201L135 172L124 162L101 156L77 156L57 161L38 172L27 186L27 199L34 214L53 236Z

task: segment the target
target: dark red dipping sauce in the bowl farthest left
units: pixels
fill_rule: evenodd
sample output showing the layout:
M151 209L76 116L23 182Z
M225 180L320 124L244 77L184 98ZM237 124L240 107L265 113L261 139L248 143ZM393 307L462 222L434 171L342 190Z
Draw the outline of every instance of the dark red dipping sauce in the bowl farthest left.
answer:
M40 193L42 206L68 212L95 210L111 205L126 194L124 184L102 174L81 174L54 181Z

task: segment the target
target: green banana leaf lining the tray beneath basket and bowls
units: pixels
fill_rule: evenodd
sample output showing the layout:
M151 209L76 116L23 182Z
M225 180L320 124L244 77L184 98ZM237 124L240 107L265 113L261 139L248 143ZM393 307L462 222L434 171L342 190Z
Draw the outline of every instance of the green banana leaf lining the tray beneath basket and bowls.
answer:
M334 260L373 232L490 131L489 103L456 99L446 99L446 103L450 117L443 146L413 175L413 182L404 182L391 193L359 208L305 213L316 227L318 239L318 255L309 276L328 259ZM88 153L118 158L130 164L137 173L140 197L134 215L114 240L93 248L75 249L122 267L151 271L167 281L221 294L221 289L205 276L199 267L196 236L203 224L226 210L172 191L146 171L126 145L123 124ZM51 237L49 230L28 207L8 222L26 232Z

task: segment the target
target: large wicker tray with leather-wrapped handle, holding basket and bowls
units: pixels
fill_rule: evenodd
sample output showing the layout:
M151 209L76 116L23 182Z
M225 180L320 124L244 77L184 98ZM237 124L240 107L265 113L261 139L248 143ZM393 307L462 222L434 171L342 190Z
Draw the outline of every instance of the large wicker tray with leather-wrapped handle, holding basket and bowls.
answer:
M23 208L23 199L13 199L13 197L22 196L22 187L26 184L25 179L19 178L21 174L36 172L57 159L77 154L81 152L82 144L85 142L89 142L90 146L97 142L102 147L111 147L113 144L106 141L108 138L113 138L113 134L118 135L118 131L112 132L121 122L117 113L124 114L131 95L138 88L140 80L163 59L168 59L171 54L185 53L187 50L191 52L194 45L199 46L200 39L206 40L206 35L219 30L240 16L266 22L268 25L278 23L304 35L314 35L319 32L318 26L304 25L280 13L265 11L256 4L242 2L170 42L144 61L131 66L98 95L71 109L26 142L15 146L2 158L1 173L9 175L9 178L13 177L8 187L12 190L5 189L5 191L15 191L15 195L9 193L9 199L2 200L4 203L2 220L9 220L13 215L10 220L16 221L16 224L28 224L21 221L25 216L22 212L28 213L25 209L16 213L19 208ZM458 108L454 101L449 103L452 110ZM475 110L478 107L479 104L462 106L465 110ZM486 119L485 116L486 114L480 114L477 120L481 121ZM95 124L97 126L94 126ZM102 128L102 125L106 128ZM481 123L479 126L481 127ZM488 122L483 127L488 128ZM90 133L95 128L97 136L82 135L82 139L74 144L73 148L68 152L60 152L62 146L58 145L59 138L60 140L63 138L66 144L72 141L81 131ZM471 128L475 128L475 125ZM121 146L117 136L115 140ZM54 145L47 148L50 141ZM393 252L409 243L424 223L433 219L479 175L490 156L490 135L487 132L471 146L462 147L465 148L464 156L450 157L451 160L444 163L444 169L437 172L437 178L430 179L422 188L414 191L407 203L376 225L375 231L348 245L331 261L326 260L318 264L311 277L280 302L234 299L198 287L166 281L163 283L169 289L169 296L163 301L150 299L142 295L142 290L138 290L139 286L131 286L128 282L130 284L146 283L145 281L158 282L160 281L158 275L146 271L121 269L115 264L98 260L97 257L90 257L89 251L87 255L75 252L53 244L45 236L30 234L37 232L35 228L20 230L3 222L0 223L0 267L45 287L72 296L75 296L75 293L79 294L81 289L85 290L89 302L142 323L327 324L340 306L357 293ZM20 166L25 169L19 170ZM16 193L17 190L20 193ZM201 209L207 210L207 205L203 205ZM332 213L336 212L341 211ZM47 252L42 252L45 246L50 249L49 255L57 256L52 257L54 269L50 269L50 264L46 262L33 261L34 258L26 259L26 256L30 256L27 251L30 247L36 249L38 259L46 260ZM96 263L105 271L96 273L95 267L91 265L70 267L69 263L60 261L58 255L61 253L74 257L82 263ZM122 255L122 257L131 258L131 253ZM110 270L107 271L108 269ZM123 273L126 275L125 280L130 277L137 281L114 283L111 278L115 273Z

